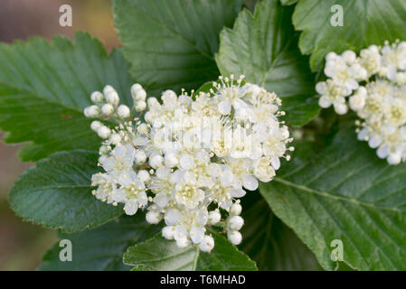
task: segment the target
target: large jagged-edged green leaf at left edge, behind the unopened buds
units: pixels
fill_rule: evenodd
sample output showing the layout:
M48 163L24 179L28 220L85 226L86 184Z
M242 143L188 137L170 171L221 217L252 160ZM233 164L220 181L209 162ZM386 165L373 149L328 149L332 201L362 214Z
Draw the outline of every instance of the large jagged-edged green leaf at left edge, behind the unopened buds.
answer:
M92 91L107 84L129 104L128 63L119 51L107 54L87 33L74 44L63 37L52 42L0 44L0 128L6 143L31 142L20 152L37 161L53 152L97 150L99 137L90 130L83 108Z

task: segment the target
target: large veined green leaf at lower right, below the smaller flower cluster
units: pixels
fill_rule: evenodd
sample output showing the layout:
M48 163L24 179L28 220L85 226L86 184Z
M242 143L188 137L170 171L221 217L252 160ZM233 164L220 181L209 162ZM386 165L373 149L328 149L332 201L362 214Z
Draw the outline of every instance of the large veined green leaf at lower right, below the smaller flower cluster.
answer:
M272 211L326 269L336 266L330 255L338 239L348 266L405 270L406 163L388 165L348 130L318 155L299 151L260 185Z

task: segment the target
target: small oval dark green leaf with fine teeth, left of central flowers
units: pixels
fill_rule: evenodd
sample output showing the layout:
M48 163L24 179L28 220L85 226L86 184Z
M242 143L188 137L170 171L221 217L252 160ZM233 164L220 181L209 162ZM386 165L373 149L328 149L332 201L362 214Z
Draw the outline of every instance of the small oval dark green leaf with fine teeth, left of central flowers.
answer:
M98 172L98 154L71 151L52 154L24 172L10 191L15 213L45 228L65 232L95 228L122 214L122 206L97 200L90 177Z

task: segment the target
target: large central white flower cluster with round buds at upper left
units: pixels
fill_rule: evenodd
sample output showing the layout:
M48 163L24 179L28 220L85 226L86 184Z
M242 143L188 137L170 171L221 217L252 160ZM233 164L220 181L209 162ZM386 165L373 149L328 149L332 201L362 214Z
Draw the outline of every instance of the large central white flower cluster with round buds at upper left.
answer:
M92 94L97 107L85 109L88 117L118 120L109 134L100 132L107 126L99 121L91 125L105 139L99 149L105 172L92 176L98 187L94 195L113 205L124 203L127 215L145 209L148 223L164 219L162 235L178 247L212 250L208 226L222 228L232 244L240 244L244 221L238 199L244 189L254 191L259 181L272 180L279 158L289 159L287 151L293 151L288 127L278 120L284 115L278 111L280 99L243 77L220 77L197 96L166 90L161 102L147 98L143 116L130 117L118 113L116 98L109 114L106 104L99 109L105 100L111 104L114 90L106 88L104 95ZM137 107L145 90L135 84L131 95L135 110L142 111Z

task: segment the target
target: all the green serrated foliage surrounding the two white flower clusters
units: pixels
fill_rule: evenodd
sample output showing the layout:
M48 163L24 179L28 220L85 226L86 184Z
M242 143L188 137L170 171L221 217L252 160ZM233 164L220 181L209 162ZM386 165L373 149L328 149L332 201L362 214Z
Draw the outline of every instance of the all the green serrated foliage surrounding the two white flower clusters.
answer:
M254 12L241 11L242 2ZM343 7L344 26L331 25L333 5ZM406 163L390 166L357 141L345 129L354 115L326 110L305 126L319 114L310 68L321 79L329 51L406 40L405 1L115 0L113 10L127 60L87 33L74 42L0 44L0 128L5 142L28 143L24 161L39 161L15 182L11 207L73 245L72 262L60 261L58 243L40 269L406 270ZM310 67L302 53L311 54ZM211 253L179 248L141 211L120 217L122 206L91 194L100 139L82 112L92 91L112 85L130 105L134 82L151 96L208 91L206 81L220 72L276 92L288 125L305 126L312 138L297 142L292 161L260 184L263 198L249 192L242 200L244 253L214 232ZM343 262L331 259L335 239Z

